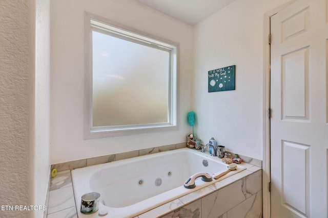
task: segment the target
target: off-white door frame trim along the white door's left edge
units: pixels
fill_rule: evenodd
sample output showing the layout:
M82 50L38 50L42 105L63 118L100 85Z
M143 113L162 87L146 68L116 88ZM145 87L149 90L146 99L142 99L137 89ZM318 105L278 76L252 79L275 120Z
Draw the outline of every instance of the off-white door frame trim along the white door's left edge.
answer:
M271 145L270 145L270 75L271 75L271 49L270 19L279 11L294 3L291 0L267 13L263 17L263 163L262 163L262 208L263 217L271 217L271 193L269 191L269 183L271 181Z

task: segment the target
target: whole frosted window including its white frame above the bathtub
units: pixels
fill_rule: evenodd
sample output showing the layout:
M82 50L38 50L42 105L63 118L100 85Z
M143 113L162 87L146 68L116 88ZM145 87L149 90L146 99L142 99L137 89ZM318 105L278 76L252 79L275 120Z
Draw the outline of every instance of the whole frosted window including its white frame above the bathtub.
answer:
M177 45L86 17L86 137L176 129Z

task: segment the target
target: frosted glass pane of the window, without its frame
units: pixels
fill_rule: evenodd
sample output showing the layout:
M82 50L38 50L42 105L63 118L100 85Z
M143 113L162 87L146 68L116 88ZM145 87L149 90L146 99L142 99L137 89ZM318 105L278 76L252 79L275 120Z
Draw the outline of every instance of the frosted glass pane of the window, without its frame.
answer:
M93 126L168 123L170 53L92 31Z

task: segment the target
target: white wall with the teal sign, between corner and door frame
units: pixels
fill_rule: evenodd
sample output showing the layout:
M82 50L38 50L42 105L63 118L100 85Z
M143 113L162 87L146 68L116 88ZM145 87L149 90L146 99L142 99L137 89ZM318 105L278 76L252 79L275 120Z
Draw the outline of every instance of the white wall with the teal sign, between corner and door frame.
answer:
M238 0L195 27L197 135L262 159L263 17L288 0ZM208 71L236 65L236 90L208 93Z

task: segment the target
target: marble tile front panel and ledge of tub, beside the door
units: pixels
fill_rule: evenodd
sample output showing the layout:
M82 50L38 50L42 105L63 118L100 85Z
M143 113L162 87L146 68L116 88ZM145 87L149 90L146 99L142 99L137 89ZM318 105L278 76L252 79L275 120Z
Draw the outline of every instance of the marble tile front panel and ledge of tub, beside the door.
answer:
M248 167L245 171L134 218L149 217L262 217L262 169L258 166Z

